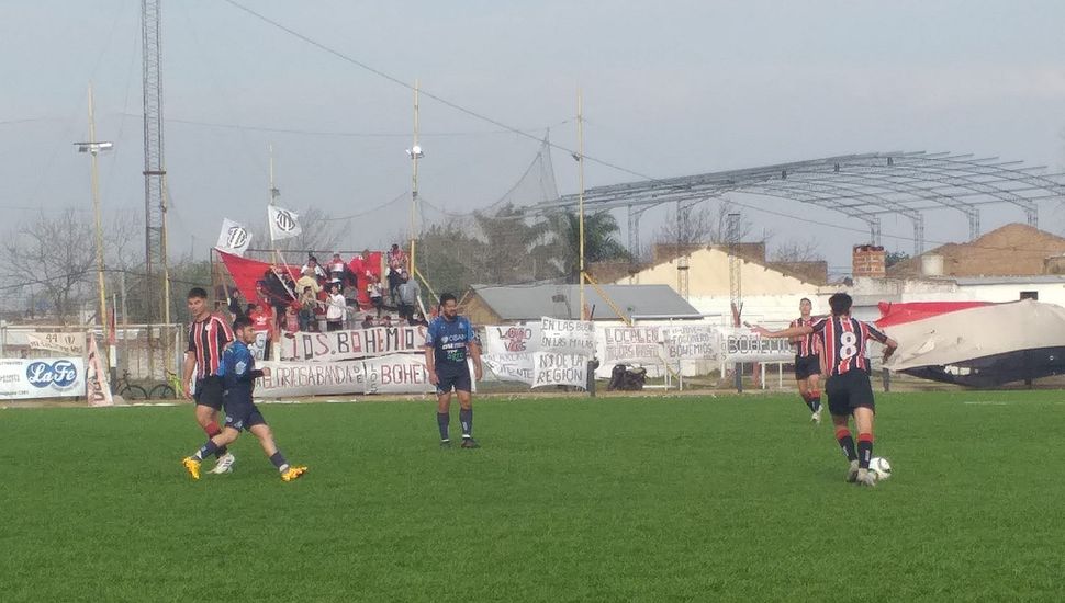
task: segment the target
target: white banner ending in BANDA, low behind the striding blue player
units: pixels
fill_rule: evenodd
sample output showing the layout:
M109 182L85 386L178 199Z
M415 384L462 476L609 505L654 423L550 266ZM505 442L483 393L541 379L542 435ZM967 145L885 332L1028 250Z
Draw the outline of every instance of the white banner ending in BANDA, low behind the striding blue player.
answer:
M270 368L269 377L256 382L257 398L365 394L367 389L362 361L262 362L256 366Z

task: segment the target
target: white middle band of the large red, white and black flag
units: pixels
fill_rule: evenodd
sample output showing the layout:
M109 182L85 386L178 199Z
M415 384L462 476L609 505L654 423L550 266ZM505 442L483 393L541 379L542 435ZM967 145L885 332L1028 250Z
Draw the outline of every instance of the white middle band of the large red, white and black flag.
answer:
M1020 350L1065 346L1065 308L1025 299L892 325L884 332L898 342L885 368L945 366Z

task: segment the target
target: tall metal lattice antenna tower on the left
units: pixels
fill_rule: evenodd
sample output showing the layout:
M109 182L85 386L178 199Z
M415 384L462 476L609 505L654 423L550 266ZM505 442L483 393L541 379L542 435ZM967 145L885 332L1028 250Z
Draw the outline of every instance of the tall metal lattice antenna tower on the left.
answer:
M141 0L144 88L144 219L147 322L170 322L167 265L166 168L162 159L162 68L160 0ZM161 295L161 298L160 298Z

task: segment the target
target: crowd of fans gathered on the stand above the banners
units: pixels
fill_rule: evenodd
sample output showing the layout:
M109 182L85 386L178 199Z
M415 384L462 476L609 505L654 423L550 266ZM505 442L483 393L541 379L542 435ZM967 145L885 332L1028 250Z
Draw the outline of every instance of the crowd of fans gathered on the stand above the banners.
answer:
M242 302L239 292L231 292L228 310L234 318L246 316L265 334L267 357L270 343L298 331L428 325L418 309L422 289L399 244L385 254L385 264L384 276L378 277L370 270L356 274L340 253L325 265L310 254L295 278L276 264L256 282L255 299Z

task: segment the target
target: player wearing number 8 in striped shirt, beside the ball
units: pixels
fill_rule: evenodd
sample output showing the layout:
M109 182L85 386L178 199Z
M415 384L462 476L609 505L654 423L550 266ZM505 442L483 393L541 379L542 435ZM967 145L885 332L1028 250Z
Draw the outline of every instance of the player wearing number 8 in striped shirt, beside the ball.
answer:
M797 337L810 333L820 337L825 369L828 373L828 380L825 383L828 410L832 413L832 423L836 425L836 440L851 464L847 480L874 486L876 478L868 470L868 463L873 458L873 417L876 410L873 386L868 379L870 362L865 353L868 340L875 339L885 345L884 360L887 360L898 348L898 343L876 327L851 318L850 295L837 293L829 298L828 304L832 308L832 316L814 325L792 327L783 331L769 331L763 327L755 327L755 330L762 337ZM856 451L848 428L852 416L857 429Z

